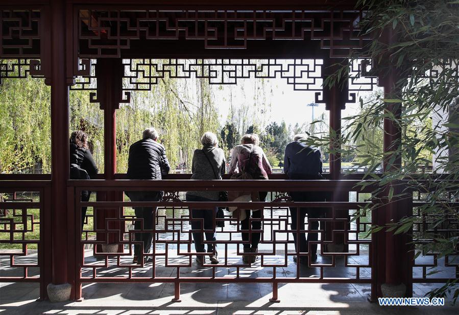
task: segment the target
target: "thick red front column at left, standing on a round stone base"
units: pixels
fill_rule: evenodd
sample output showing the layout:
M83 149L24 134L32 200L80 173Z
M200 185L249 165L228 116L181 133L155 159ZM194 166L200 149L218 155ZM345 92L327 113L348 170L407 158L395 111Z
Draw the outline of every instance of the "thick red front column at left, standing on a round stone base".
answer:
M51 0L51 225L52 283L47 294L52 301L66 301L75 286L71 270L75 244L74 216L67 209L69 179L69 99L66 78L65 1Z

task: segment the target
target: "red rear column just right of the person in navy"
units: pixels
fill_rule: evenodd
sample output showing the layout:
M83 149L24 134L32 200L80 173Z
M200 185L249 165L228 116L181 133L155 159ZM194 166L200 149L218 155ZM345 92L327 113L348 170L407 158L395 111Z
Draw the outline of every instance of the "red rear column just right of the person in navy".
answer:
M324 66L322 70L322 76L324 79L334 74L340 67L343 66L344 59L324 59ZM348 84L342 84L337 82L331 87L324 86L324 101L326 109L329 110L329 125L330 125L330 150L340 150L341 145L339 143L341 138L341 111L345 109L346 101L348 100ZM339 180L341 179L341 154L335 152L329 156L330 163L330 179ZM333 191L332 201L349 201L349 194L340 190ZM330 212L330 211L329 211ZM346 219L349 222L349 214L346 209L334 208L331 213L328 213L328 217L334 219ZM327 252L343 252L347 251L347 246L344 244L345 235L344 233L332 233L336 230L346 230L348 224L346 221L340 220L341 222L333 222L327 225L327 240L333 240L333 244L327 246Z

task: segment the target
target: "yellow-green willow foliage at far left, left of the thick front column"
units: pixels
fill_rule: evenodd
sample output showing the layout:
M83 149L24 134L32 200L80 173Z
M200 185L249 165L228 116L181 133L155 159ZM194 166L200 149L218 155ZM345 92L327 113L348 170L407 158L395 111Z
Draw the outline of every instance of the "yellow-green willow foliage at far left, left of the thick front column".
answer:
M0 173L50 172L50 153L50 88L43 80L4 80L0 85Z

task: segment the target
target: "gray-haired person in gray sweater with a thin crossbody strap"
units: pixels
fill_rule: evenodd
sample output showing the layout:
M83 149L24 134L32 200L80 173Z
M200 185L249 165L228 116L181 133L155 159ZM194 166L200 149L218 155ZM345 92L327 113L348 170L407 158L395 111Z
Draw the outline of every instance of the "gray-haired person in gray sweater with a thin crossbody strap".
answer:
M213 132L206 132L201 138L202 149L196 149L191 164L191 179L195 180L219 180L225 174L225 153L218 148L218 140ZM219 201L219 191L187 191L186 201L188 202L216 202ZM190 222L192 230L206 230L206 241L216 241L214 217L218 211L213 209L190 208ZM204 222L204 227L202 226ZM203 244L203 233L193 232L195 249L197 253L205 253ZM218 253L214 244L207 244L207 255L211 263L219 263ZM198 255L196 262L203 265L206 261L205 255Z

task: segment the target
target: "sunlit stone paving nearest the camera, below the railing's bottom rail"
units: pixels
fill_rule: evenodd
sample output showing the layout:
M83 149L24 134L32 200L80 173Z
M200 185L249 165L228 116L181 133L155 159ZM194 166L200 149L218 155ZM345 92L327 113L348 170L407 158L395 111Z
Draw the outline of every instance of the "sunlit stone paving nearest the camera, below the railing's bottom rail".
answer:
M438 285L438 284L437 284ZM415 284L421 297L436 284ZM270 284L187 283L181 285L182 302L172 302L173 284L87 283L81 302L38 302L36 283L2 283L0 315L35 314L458 314L459 306L382 307L367 301L367 284L280 284L280 303L271 303Z

